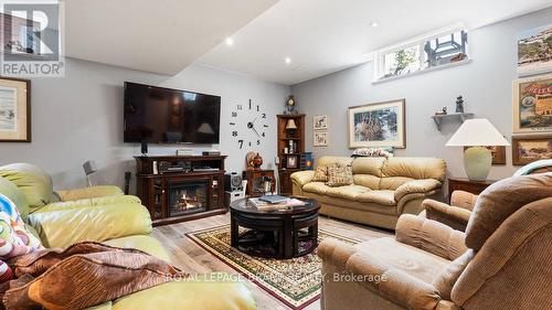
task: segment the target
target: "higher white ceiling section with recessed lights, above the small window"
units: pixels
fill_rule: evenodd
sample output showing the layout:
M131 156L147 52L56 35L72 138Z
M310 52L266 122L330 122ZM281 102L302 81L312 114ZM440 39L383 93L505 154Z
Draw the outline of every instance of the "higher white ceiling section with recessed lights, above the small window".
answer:
M102 1L103 2L103 1ZM199 61L293 85L367 62L363 54L454 23L475 29L550 0L280 0ZM378 22L378 28L371 28ZM286 65L285 57L291 63Z

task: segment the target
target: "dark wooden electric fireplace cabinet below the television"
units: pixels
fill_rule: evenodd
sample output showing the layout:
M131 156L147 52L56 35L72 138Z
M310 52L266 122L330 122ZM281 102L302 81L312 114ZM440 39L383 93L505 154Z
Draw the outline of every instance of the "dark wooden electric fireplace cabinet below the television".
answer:
M225 156L139 156L137 195L153 226L227 212L224 205Z

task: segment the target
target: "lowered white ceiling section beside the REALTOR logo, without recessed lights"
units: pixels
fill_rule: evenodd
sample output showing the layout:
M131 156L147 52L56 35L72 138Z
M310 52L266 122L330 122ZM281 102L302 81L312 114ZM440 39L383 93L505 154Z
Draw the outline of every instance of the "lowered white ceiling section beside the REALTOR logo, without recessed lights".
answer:
M277 0L67 0L75 58L174 75Z

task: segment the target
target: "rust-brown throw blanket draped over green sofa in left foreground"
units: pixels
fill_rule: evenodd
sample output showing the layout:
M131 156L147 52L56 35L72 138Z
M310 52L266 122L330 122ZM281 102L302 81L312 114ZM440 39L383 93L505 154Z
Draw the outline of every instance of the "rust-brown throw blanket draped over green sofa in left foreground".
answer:
M188 276L138 249L78 243L9 261L18 277L0 287L7 310L83 309Z

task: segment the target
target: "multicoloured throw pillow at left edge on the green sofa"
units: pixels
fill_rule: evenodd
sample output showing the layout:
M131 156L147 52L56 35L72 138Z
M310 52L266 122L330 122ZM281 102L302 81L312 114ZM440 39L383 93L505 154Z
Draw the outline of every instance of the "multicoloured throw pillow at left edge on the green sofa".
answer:
M0 194L0 259L42 248L40 239L26 229L15 204Z

